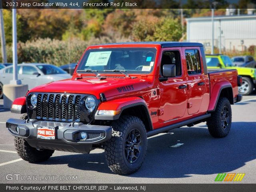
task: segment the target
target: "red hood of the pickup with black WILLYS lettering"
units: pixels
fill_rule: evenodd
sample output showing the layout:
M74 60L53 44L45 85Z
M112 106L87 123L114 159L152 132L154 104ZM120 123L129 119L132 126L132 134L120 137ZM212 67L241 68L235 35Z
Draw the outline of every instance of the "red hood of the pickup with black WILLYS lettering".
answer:
M100 98L100 93L104 93L108 98L143 89L146 89L146 80L139 78L71 78L37 86L30 92L92 94L97 98Z

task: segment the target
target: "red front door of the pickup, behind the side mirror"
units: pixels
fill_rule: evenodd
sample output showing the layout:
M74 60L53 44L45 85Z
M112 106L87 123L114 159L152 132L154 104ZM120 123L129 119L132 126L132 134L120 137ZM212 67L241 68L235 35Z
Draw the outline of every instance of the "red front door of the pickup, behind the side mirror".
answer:
M160 77L162 77L163 65L166 64L174 64L176 66L176 76L169 77L168 80L159 84L159 122L177 120L186 114L186 75L184 75L181 55L181 48L164 48L162 50Z

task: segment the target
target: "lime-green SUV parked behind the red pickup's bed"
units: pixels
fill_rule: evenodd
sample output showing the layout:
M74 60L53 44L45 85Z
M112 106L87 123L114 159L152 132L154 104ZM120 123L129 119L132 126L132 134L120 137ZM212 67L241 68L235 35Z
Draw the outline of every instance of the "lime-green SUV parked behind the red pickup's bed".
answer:
M256 84L256 69L247 67L234 66L231 59L226 55L214 54L206 55L206 63L208 68L226 68L236 69L238 75L242 76L242 86L238 91L242 95L251 94Z

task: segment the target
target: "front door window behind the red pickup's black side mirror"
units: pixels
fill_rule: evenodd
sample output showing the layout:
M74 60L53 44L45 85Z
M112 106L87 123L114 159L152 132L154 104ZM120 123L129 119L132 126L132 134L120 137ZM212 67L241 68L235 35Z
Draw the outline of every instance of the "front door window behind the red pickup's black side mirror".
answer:
M181 76L181 62L180 62L180 52L179 51L165 51L162 55L161 60L161 74L163 72L164 65L175 65L176 66L176 76Z

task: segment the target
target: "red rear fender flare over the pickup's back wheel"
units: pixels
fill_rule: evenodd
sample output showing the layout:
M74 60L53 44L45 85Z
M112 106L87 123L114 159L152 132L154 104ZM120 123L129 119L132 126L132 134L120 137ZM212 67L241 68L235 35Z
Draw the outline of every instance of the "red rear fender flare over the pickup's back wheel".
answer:
M209 107L208 107L208 112L214 112L220 97L220 93L222 92L222 90L226 89L226 88L231 88L232 90L232 100L234 99L233 97L233 88L232 85L230 84L230 82L220 82L220 83L216 83L212 89L211 92L211 98L210 98L210 103L209 103ZM230 102L230 104L234 104L233 102Z

